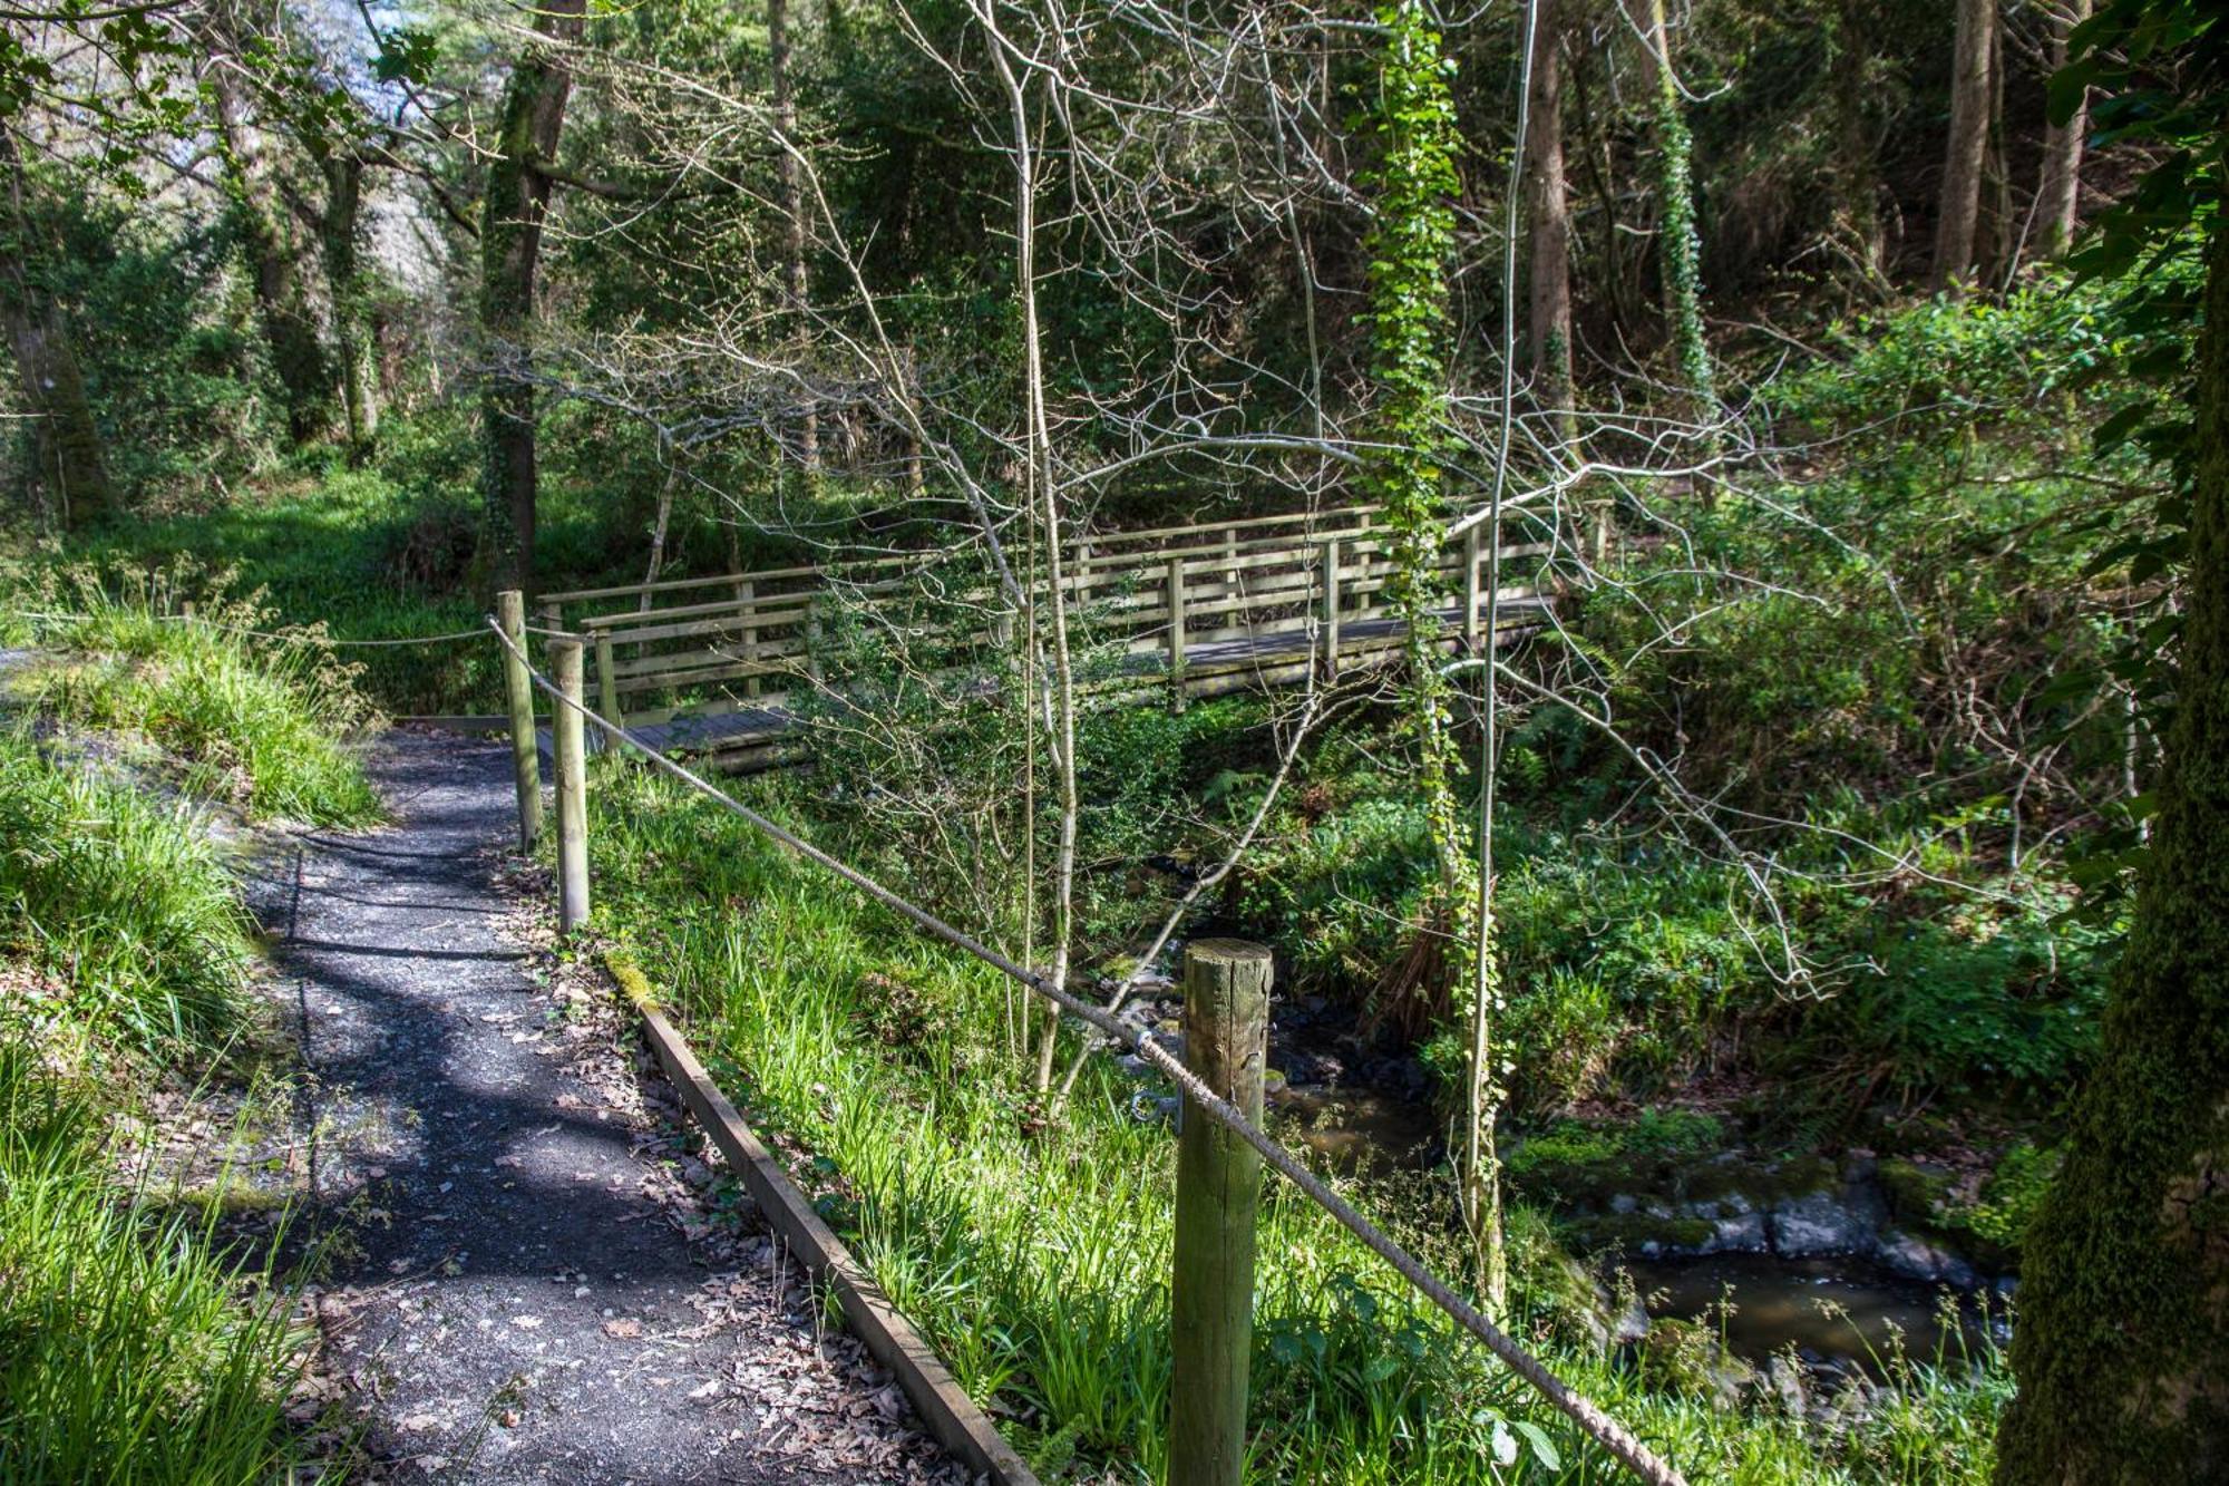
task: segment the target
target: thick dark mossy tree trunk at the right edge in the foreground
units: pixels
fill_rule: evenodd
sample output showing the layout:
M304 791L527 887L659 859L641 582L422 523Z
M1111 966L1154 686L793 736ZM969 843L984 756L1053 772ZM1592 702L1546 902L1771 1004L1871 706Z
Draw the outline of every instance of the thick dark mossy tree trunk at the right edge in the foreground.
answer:
M2229 228L2213 225L2160 810L2028 1238L1999 1486L2229 1479Z

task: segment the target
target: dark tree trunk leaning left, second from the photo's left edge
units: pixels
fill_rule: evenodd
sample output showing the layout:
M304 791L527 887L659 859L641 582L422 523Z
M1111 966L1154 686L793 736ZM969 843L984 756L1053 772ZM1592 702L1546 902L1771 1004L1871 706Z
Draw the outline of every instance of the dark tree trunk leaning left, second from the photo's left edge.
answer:
M214 45L227 45L216 38ZM296 446L325 435L332 411L332 379L325 348L317 339L317 317L301 288L294 223L279 201L263 132L247 112L230 67L210 71L216 91L216 123L223 141L225 190L232 221L247 254L247 281L256 299L256 321L270 346L272 373L285 397L288 437Z

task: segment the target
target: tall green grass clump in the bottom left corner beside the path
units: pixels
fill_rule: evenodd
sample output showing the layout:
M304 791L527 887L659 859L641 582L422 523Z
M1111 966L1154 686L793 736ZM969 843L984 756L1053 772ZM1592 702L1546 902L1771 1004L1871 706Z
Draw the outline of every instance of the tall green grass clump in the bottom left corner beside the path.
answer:
M303 1337L216 1207L118 1194L89 1093L0 1042L0 1479L274 1479Z

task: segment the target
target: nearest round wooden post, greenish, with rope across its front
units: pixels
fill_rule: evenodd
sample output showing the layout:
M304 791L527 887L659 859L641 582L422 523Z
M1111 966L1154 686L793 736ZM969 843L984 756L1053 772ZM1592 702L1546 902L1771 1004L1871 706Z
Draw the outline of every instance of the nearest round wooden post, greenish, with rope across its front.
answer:
M1268 982L1259 944L1197 939L1184 951L1184 1060L1257 1125ZM1188 1102L1177 1136L1168 1486L1239 1486L1259 1198L1262 1156Z

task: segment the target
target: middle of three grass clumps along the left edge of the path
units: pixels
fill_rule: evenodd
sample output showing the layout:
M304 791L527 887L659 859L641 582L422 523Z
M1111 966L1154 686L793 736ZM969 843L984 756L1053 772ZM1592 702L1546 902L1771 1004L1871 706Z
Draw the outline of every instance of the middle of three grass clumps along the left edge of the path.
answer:
M0 959L51 986L9 997L0 1038L181 1051L232 1035L247 919L187 803L0 734Z

